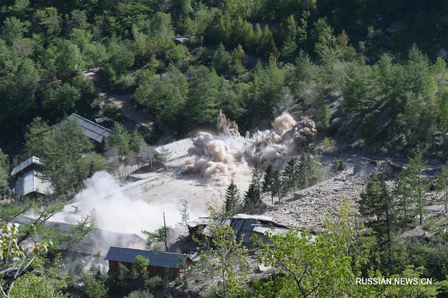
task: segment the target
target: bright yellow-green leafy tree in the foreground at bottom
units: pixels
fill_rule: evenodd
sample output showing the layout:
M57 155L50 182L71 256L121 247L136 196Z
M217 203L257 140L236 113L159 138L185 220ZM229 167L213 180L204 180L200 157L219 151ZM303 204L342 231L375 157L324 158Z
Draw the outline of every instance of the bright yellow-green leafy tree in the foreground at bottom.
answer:
M260 249L266 265L279 270L277 287L271 280L259 291L261 297L374 297L381 289L356 286L355 277L368 261L368 248L357 254L353 247L358 234L350 222L345 202L336 221L327 220L324 232L312 236L299 229L270 234Z

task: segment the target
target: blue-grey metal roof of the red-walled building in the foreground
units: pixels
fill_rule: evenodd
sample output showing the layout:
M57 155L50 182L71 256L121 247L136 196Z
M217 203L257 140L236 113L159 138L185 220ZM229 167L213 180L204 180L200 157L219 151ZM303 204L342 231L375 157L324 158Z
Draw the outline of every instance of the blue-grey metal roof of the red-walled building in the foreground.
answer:
M135 257L137 255L148 258L150 266L169 267L169 268L180 267L179 256L182 257L184 262L187 259L186 254L177 254L171 252L155 252L152 250L111 246L105 260L135 263Z

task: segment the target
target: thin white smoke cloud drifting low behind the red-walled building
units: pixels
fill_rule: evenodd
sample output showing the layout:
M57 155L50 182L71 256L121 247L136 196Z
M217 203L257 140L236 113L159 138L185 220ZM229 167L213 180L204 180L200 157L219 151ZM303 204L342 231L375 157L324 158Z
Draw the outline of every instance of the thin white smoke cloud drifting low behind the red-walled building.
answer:
M174 227L181 221L178 209L181 202L157 206L143 200L130 199L121 189L118 180L106 171L96 172L85 181L86 188L76 196L76 202L67 205L64 212L51 218L52 221L76 223L82 217L91 216L101 229L122 233L153 231L166 224ZM74 208L73 206L77 207ZM191 215L191 218L194 217Z

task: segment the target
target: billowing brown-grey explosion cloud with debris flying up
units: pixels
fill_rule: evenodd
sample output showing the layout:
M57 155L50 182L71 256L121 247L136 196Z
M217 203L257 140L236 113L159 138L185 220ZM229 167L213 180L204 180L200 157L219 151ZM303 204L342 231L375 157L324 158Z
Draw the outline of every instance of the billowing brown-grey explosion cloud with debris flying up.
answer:
M222 118L226 120L225 115L220 113L218 128L221 127ZM220 133L214 136L200 132L193 139L194 147L189 150L191 157L182 171L200 173L206 183L227 185L232 177L249 175L249 164L255 161L262 165L284 163L286 158L313 142L317 134L314 121L296 122L286 112L274 120L272 127L272 130L257 131L245 138L239 134Z

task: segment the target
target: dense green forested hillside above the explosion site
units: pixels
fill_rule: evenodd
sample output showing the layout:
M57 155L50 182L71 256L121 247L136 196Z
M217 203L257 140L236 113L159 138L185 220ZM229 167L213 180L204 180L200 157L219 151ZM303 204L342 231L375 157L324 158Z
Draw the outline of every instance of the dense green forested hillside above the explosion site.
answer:
M447 149L444 1L3 1L1 144L36 116L98 116L98 79L186 135L306 115L354 149ZM176 35L194 35L175 43ZM103 111L104 112L104 111ZM376 132L372 134L372 132ZM446 157L446 156L445 156Z

